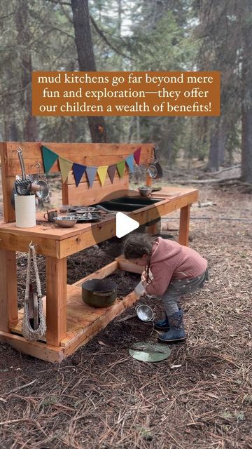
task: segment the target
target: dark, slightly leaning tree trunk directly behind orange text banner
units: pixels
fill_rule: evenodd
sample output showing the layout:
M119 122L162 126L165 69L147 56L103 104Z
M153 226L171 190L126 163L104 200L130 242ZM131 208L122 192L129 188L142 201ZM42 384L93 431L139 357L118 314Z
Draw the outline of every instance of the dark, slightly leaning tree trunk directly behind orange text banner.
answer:
M71 8L79 69L82 72L96 72L88 0L71 0ZM87 121L92 142L106 142L104 117L88 116Z

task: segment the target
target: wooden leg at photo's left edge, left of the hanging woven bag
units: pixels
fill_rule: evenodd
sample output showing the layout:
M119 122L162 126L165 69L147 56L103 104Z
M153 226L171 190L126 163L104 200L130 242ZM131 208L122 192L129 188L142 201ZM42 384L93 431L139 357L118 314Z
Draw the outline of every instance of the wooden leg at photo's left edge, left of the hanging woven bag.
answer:
M0 250L0 330L9 332L18 323L18 290L15 251Z

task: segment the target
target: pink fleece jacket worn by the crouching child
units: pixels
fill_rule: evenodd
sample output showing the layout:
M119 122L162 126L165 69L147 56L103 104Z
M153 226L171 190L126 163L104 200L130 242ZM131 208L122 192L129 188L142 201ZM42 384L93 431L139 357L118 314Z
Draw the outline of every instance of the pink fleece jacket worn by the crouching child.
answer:
M163 295L172 279L191 279L204 273L207 260L188 246L158 237L153 244L150 269L153 281L146 286L146 292Z

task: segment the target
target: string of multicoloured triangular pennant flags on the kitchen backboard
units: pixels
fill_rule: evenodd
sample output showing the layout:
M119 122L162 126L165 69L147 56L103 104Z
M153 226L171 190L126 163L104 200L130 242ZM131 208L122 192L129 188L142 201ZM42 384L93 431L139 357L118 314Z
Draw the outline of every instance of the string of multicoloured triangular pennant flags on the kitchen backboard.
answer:
M123 159L123 161L114 163L111 166L84 166L81 163L71 162L69 161L69 159L59 156L59 154L52 152L51 149L45 147L44 145L41 145L41 148L45 173L49 173L53 164L56 161L59 161L59 169L62 174L62 182L66 181L69 172L73 170L76 187L78 187L78 185L80 184L80 180L84 174L87 176L87 181L90 187L92 187L96 175L98 175L101 184L104 185L106 175L108 174L109 179L113 184L116 171L118 172L119 177L123 177L126 166L130 173L134 173L134 163L139 166L141 158L141 147L139 147L133 154L130 154L130 156L127 156L127 158Z

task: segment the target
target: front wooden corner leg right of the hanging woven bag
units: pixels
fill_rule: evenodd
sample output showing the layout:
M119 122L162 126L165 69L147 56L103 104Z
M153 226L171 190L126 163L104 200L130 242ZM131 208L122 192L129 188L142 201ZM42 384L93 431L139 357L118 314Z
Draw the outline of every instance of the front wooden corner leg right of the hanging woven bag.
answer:
M46 342L59 347L66 337L66 257L46 257Z

